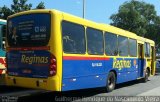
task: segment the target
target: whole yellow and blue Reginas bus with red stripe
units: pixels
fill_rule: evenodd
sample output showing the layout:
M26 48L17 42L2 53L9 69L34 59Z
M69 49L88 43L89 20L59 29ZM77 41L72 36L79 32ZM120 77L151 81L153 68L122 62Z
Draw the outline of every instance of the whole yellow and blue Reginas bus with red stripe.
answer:
M69 91L155 74L155 43L134 33L57 10L8 17L9 86Z

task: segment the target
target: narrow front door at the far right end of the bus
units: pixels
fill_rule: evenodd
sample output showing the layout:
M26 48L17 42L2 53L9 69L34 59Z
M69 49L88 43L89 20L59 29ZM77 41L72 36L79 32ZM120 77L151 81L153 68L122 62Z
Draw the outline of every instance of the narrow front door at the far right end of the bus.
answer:
M155 74L155 48L151 46L151 74Z

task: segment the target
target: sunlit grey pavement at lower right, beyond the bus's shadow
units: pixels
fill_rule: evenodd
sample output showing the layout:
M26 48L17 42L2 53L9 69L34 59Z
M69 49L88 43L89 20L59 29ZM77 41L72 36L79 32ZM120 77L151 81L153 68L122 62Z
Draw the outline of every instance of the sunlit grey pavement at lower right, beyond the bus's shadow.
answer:
M111 93L101 93L99 96L139 96L150 95L160 96L158 90L160 90L160 75L150 77L147 83L141 83L140 81L132 81L124 84L117 85L117 88ZM147 94L148 93L148 94ZM150 94L149 94L150 93Z

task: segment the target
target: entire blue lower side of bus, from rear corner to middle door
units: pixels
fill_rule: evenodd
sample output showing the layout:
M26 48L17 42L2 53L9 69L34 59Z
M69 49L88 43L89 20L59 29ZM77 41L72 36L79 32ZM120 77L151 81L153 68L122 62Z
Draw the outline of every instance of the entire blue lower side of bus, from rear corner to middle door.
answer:
M110 58L109 60L69 60L63 59L63 76L62 76L62 91L103 87L106 85L107 75L109 71L115 70L117 73L117 83L122 83L130 80L135 80L139 77L138 74L138 59L137 58ZM118 63L130 62L130 68L113 68Z

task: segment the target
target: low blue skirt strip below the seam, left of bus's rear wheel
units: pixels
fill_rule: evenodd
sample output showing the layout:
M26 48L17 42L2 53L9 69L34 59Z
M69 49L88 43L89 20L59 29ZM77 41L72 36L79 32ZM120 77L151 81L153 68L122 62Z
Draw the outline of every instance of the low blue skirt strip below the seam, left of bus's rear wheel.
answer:
M64 78L62 91L103 87L106 84L106 75L82 76L75 78Z

